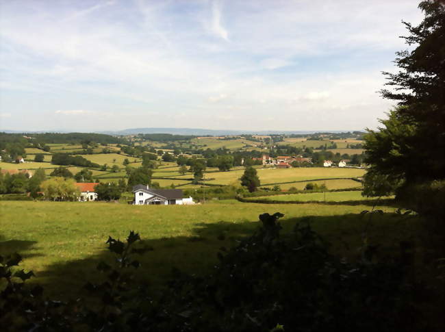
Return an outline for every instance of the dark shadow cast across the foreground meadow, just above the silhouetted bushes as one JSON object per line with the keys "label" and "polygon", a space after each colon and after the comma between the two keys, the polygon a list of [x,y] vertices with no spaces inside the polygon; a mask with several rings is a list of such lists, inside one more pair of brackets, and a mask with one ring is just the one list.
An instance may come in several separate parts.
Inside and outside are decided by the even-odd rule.
{"label": "dark shadow cast across the foreground meadow, just above the silhouetted bushes", "polygon": [[[416,233],[414,227],[418,226],[418,222],[407,222],[409,218],[413,217],[408,216],[401,220],[394,214],[387,214],[379,216],[378,220],[371,220],[368,241],[383,243],[383,247],[397,245],[399,241]],[[366,217],[357,214],[285,218],[281,220],[282,236],[290,235],[296,223],[301,221],[309,221],[315,231],[331,242],[333,253],[346,257],[357,256],[357,248],[361,246],[361,234],[369,222]],[[406,227],[407,225],[409,227]],[[144,240],[145,234],[141,233],[140,245],[151,246],[154,250],[138,257],[142,265],[134,275],[136,279],[143,281],[153,294],[157,294],[162,291],[173,268],[179,268],[189,274],[205,274],[218,262],[216,255],[221,248],[235,246],[240,239],[253,234],[257,227],[259,222],[220,221],[212,224],[196,223],[190,236]],[[99,261],[110,263],[113,260],[106,249],[106,240],[103,239],[103,250],[96,255],[52,264],[39,272],[34,282],[42,284],[47,295],[55,298],[79,296],[79,290],[87,281],[97,283],[105,278],[97,270],[97,264]],[[20,248],[17,248],[21,252]]]}

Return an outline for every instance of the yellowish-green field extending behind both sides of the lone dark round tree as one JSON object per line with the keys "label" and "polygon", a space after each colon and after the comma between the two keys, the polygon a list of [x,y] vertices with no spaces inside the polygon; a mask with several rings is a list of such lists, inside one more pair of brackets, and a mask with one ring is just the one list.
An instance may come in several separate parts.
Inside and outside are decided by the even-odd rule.
{"label": "yellowish-green field extending behind both sides of the lone dark round tree", "polygon": [[[214,180],[209,183],[227,185],[238,181],[244,170],[210,173],[206,178]],[[281,183],[288,181],[303,181],[312,179],[334,179],[339,177],[362,177],[366,170],[359,168],[325,168],[325,167],[300,167],[300,168],[258,168],[259,181],[262,186],[269,183]]]}

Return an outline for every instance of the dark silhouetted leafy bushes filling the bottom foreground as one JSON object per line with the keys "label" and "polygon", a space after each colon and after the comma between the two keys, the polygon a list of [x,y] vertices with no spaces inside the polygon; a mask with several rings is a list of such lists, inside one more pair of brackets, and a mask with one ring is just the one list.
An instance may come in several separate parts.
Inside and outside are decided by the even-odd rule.
{"label": "dark silhouetted leafy bushes filling the bottom foreground", "polygon": [[[378,216],[364,213],[363,218]],[[309,220],[280,238],[283,214],[262,214],[261,227],[238,246],[221,248],[204,277],[173,272],[162,296],[136,281],[136,255],[153,250],[131,231],[107,240],[113,261],[101,261],[100,283],[86,283],[88,301],[44,298],[17,268],[17,254],[0,257],[0,325],[10,331],[433,331],[418,310],[437,290],[409,277],[411,242],[379,257],[364,242],[354,261],[336,257]],[[421,296],[420,296],[421,295]]]}

